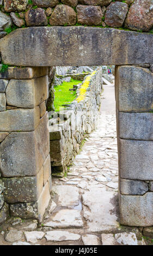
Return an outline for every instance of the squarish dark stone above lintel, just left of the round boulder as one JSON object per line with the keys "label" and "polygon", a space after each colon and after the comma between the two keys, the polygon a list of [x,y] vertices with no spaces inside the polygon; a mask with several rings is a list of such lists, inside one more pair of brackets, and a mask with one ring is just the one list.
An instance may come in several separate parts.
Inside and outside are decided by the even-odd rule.
{"label": "squarish dark stone above lintel, just left of the round boulder", "polygon": [[45,10],[42,8],[29,9],[25,13],[27,26],[46,26],[48,24]]}

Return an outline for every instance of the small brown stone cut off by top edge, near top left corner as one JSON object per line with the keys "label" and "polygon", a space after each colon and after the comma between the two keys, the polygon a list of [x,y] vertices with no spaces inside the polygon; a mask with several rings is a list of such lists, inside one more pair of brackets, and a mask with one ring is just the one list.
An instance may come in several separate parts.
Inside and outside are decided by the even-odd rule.
{"label": "small brown stone cut off by top edge, near top left corner", "polygon": [[4,0],[5,11],[25,11],[27,8],[28,0]]}

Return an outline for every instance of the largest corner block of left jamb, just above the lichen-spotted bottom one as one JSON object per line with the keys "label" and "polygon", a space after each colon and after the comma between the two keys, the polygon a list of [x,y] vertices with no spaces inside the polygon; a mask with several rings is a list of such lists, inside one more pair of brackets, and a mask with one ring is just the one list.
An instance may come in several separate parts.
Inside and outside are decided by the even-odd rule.
{"label": "largest corner block of left jamb, just above the lichen-spotted bottom one", "polygon": [[0,145],[4,177],[35,176],[50,152],[47,112],[33,132],[11,132]]}

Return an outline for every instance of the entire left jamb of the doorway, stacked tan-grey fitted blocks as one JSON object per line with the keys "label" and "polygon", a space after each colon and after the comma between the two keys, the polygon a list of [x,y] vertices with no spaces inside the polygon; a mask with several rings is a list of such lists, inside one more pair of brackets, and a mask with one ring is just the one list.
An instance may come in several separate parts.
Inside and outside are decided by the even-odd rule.
{"label": "entire left jamb of the doorway, stacked tan-grey fitted blocks", "polygon": [[0,224],[8,210],[41,221],[51,191],[47,68],[0,76]]}

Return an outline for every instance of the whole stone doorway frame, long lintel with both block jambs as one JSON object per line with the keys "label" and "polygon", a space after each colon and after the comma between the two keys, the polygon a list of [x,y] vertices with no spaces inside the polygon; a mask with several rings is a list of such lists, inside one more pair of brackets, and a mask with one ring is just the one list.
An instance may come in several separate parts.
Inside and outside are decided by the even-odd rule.
{"label": "whole stone doorway frame, long lintel with both block jambs", "polygon": [[107,27],[27,27],[4,36],[0,51],[9,65],[0,80],[4,218],[9,204],[11,215],[41,221],[50,200],[46,67],[116,65],[120,223],[153,225],[153,35]]}

